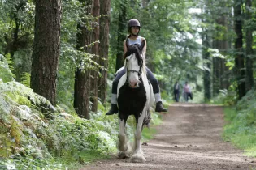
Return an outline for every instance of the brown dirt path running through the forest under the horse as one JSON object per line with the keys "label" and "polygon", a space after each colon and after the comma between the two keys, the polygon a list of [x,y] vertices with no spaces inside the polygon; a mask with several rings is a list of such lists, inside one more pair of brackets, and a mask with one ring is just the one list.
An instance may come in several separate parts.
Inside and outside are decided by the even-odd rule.
{"label": "brown dirt path running through the forest under the horse", "polygon": [[223,108],[204,104],[172,104],[163,115],[154,139],[143,146],[143,164],[128,159],[107,159],[83,170],[121,169],[256,169],[256,159],[248,158],[223,142]]}

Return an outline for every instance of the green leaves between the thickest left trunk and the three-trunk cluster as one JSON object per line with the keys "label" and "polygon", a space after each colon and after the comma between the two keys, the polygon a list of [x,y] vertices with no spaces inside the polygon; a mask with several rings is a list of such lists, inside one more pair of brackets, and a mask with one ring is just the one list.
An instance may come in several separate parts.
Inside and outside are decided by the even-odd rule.
{"label": "green leaves between the thickest left trunk and the three-trunk cluster", "polygon": [[104,69],[94,62],[91,53],[86,53],[85,49],[91,47],[95,42],[77,49],[76,37],[80,30],[77,30],[78,23],[86,25],[92,31],[94,17],[85,15],[89,6],[85,6],[78,0],[63,0],[63,13],[61,23],[61,53],[59,57],[59,68],[57,76],[57,104],[68,113],[75,113],[73,108],[75,72],[77,69],[82,71]]}

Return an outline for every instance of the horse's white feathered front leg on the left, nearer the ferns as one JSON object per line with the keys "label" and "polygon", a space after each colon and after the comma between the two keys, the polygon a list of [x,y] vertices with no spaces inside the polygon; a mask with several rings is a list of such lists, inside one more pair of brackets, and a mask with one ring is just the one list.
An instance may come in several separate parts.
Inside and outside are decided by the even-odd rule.
{"label": "horse's white feathered front leg on the left, nearer the ferns", "polygon": [[130,143],[128,142],[128,137],[125,133],[125,120],[121,120],[119,118],[119,143],[118,143],[118,149],[119,149],[119,158],[128,158],[130,157],[131,147]]}

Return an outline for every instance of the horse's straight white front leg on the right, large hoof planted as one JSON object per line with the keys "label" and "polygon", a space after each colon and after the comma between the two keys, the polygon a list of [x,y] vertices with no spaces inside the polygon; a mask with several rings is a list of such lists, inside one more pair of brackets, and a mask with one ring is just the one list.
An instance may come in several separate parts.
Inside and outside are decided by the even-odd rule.
{"label": "horse's straight white front leg on the right, large hoof planted", "polygon": [[141,117],[137,119],[136,132],[134,134],[134,152],[130,161],[132,163],[143,163],[145,162],[145,156],[141,150],[141,134],[142,134],[142,124],[145,117],[145,108],[142,111]]}

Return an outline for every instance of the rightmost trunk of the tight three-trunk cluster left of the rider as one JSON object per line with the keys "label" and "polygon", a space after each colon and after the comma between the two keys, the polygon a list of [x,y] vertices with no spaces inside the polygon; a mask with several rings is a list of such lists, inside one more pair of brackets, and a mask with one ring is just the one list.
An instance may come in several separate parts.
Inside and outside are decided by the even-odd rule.
{"label": "rightmost trunk of the tight three-trunk cluster left of the rider", "polygon": [[[108,67],[108,48],[109,48],[109,32],[110,32],[110,19],[111,19],[111,1],[101,0],[101,15],[100,18],[100,61],[99,64],[104,68]],[[106,103],[106,78],[107,72],[105,69],[101,69],[100,73],[102,77],[98,79],[98,96],[102,100],[102,104]]]}

